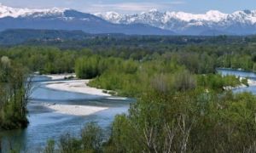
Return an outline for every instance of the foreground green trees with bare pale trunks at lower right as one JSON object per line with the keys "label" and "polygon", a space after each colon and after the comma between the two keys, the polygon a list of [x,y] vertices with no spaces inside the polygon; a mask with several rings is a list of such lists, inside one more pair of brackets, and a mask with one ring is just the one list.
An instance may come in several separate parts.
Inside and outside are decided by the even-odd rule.
{"label": "foreground green trees with bare pale trunks at lower right", "polygon": [[149,92],[117,116],[108,152],[249,152],[255,150],[255,98],[192,90]]}

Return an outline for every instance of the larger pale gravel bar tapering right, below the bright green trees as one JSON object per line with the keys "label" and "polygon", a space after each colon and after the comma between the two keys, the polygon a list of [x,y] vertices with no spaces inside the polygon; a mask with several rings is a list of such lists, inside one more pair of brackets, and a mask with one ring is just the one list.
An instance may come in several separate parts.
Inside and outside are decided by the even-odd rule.
{"label": "larger pale gravel bar tapering right, below the bright green trees", "polygon": [[55,90],[74,92],[79,94],[91,94],[98,96],[111,96],[110,94],[103,93],[103,89],[91,88],[87,86],[90,80],[70,80],[60,82],[47,82],[46,87]]}

